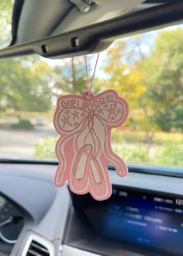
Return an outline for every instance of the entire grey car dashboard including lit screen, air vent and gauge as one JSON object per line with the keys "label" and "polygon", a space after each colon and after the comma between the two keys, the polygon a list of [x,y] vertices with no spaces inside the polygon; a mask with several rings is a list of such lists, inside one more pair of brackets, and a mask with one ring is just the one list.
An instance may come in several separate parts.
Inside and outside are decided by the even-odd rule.
{"label": "entire grey car dashboard including lit screen, air vent and gauge", "polygon": [[183,255],[181,177],[109,171],[103,202],[54,186],[53,164],[0,164],[0,255]]}

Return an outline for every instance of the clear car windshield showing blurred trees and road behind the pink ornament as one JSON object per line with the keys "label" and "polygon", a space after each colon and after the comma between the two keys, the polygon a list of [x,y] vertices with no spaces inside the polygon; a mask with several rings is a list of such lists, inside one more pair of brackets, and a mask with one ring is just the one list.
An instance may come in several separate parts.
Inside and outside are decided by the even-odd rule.
{"label": "clear car windshield showing blurred trees and road behind the pink ornament", "polygon": [[[128,164],[182,168],[182,41],[183,26],[171,26],[116,40],[99,56],[92,91],[113,88],[129,102],[126,123],[112,130]],[[91,55],[90,76],[94,64]],[[57,99],[86,90],[84,57],[0,61],[0,158],[57,160]]]}

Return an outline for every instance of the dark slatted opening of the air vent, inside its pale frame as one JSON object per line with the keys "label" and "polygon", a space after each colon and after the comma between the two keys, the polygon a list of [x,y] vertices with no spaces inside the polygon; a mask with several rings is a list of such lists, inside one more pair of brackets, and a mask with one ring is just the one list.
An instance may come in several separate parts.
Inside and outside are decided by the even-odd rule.
{"label": "dark slatted opening of the air vent, inside its pale frame", "polygon": [[36,242],[36,240],[32,240],[26,256],[50,256],[50,251],[47,247],[43,246],[43,244]]}

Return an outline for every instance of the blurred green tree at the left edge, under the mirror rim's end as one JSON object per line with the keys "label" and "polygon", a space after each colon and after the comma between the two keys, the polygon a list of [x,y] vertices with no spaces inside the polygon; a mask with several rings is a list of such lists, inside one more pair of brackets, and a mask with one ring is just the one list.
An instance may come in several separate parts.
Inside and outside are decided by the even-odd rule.
{"label": "blurred green tree at the left edge, under the mirror rim's end", "polygon": [[38,57],[0,61],[0,109],[51,108],[50,67]]}

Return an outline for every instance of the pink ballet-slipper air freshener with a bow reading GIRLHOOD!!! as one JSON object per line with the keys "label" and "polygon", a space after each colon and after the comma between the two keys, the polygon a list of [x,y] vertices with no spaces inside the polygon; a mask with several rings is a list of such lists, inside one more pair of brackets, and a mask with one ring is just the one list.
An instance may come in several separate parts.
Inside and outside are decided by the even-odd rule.
{"label": "pink ballet-slipper air freshener with a bow reading GIRLHOOD!!!", "polygon": [[113,90],[90,97],[88,92],[61,96],[54,114],[54,126],[61,135],[56,145],[55,185],[68,181],[76,194],[89,192],[96,200],[108,199],[112,193],[108,165],[119,176],[128,172],[111,147],[111,130],[126,121],[128,112],[126,100]]}

